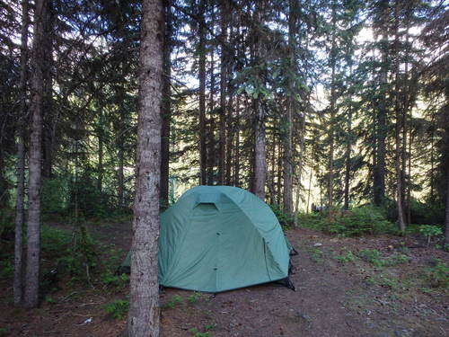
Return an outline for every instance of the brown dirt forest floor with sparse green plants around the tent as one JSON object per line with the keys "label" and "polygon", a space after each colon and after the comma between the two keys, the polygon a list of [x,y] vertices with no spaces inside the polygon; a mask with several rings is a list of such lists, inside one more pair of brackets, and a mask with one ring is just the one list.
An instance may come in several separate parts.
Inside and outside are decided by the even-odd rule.
{"label": "brown dirt forest floor with sparse green plants around the tent", "polygon": [[[102,222],[89,230],[109,244],[103,253],[123,258],[131,243],[129,223]],[[449,253],[427,248],[418,236],[345,238],[304,228],[286,235],[299,252],[292,257],[295,292],[266,284],[214,297],[166,288],[162,336],[447,336],[448,292],[437,287],[431,271],[437,271],[435,259],[447,262]],[[60,279],[33,310],[14,308],[12,292],[11,279],[0,279],[0,336],[108,337],[125,327],[126,316],[114,319],[105,306],[127,299],[128,286]]]}

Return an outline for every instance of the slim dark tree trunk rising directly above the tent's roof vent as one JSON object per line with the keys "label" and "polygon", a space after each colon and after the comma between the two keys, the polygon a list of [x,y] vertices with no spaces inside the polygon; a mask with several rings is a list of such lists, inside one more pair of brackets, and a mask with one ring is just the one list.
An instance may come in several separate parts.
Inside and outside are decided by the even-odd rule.
{"label": "slim dark tree trunk rising directly above the tent's roof vent", "polygon": [[206,143],[206,27],[205,27],[205,1],[199,5],[199,184],[207,184],[207,143]]}

